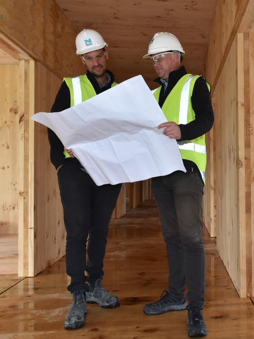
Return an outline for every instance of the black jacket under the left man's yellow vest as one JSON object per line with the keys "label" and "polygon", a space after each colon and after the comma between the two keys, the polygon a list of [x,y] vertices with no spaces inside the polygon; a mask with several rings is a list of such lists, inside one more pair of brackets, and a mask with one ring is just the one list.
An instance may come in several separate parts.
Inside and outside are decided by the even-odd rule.
{"label": "black jacket under the left man's yellow vest", "polygon": [[[100,88],[99,84],[97,83],[94,75],[87,71],[87,77],[91,84],[93,85],[93,88],[96,92],[96,94],[99,94],[101,92],[104,92],[105,90],[111,88],[112,83],[114,82],[114,75],[112,72],[107,70],[107,73],[110,75],[110,82],[107,84],[107,86],[104,86],[103,88]],[[69,87],[67,86],[66,82],[62,82],[61,87],[56,94],[55,102],[51,108],[51,112],[61,112],[67,108],[71,107],[71,95]],[[81,164],[79,163],[77,158],[65,158],[64,155],[64,145],[62,145],[60,139],[58,136],[48,128],[48,137],[49,137],[49,143],[50,143],[50,159],[52,164],[57,169],[60,165],[64,164],[67,160],[69,163],[72,162],[73,165],[78,165],[80,167]]]}

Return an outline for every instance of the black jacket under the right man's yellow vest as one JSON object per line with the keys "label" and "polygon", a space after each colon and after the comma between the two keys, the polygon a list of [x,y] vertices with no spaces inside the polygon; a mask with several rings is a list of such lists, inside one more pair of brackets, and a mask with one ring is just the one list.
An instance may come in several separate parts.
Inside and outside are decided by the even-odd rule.
{"label": "black jacket under the right man's yellow vest", "polygon": [[[163,106],[168,94],[170,94],[180,78],[185,74],[187,74],[187,72],[184,66],[180,67],[176,71],[172,71],[168,76],[165,92],[161,78],[155,79],[155,82],[162,86],[159,95],[160,107]],[[195,120],[186,125],[179,125],[181,130],[181,139],[179,139],[179,141],[195,139],[208,132],[214,124],[214,112],[213,106],[211,105],[210,92],[207,88],[206,81],[202,76],[200,76],[195,82],[191,100],[192,107],[195,112]],[[199,169],[194,162],[183,159],[183,164],[188,172],[199,173]]]}

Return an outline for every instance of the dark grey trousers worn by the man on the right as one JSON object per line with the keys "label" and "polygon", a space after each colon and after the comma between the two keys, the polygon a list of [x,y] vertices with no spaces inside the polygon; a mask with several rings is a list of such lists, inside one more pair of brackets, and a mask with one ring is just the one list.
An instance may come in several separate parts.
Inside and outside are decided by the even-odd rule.
{"label": "dark grey trousers worn by the man on the right", "polygon": [[184,297],[202,307],[205,293],[205,254],[202,234],[203,181],[198,173],[176,171],[153,178],[170,270],[169,292],[175,301]]}

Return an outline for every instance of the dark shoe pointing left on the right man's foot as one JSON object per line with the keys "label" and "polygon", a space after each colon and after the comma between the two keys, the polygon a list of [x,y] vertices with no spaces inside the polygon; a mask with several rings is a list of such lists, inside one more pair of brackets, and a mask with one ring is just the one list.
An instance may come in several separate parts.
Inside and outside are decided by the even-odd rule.
{"label": "dark shoe pointing left on the right man's foot", "polygon": [[162,314],[168,311],[181,311],[185,310],[187,302],[183,298],[179,302],[172,300],[170,293],[167,290],[164,290],[161,294],[160,300],[155,303],[146,304],[143,308],[145,314],[157,315]]}

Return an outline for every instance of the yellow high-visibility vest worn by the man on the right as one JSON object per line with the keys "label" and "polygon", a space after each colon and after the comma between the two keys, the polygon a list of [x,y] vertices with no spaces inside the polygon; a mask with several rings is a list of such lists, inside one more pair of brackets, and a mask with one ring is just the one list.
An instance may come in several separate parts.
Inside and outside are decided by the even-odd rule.
{"label": "yellow high-visibility vest worn by the man on the right", "polygon": [[[168,94],[162,111],[167,118],[167,121],[175,122],[176,124],[188,124],[195,120],[195,112],[192,107],[191,97],[194,84],[200,75],[185,74],[180,78],[178,83]],[[210,90],[208,83],[207,87]],[[154,91],[154,96],[159,102],[161,86]],[[177,142],[181,156],[183,159],[193,161],[200,170],[203,181],[205,182],[205,166],[206,166],[206,147],[205,135],[188,140]]]}

